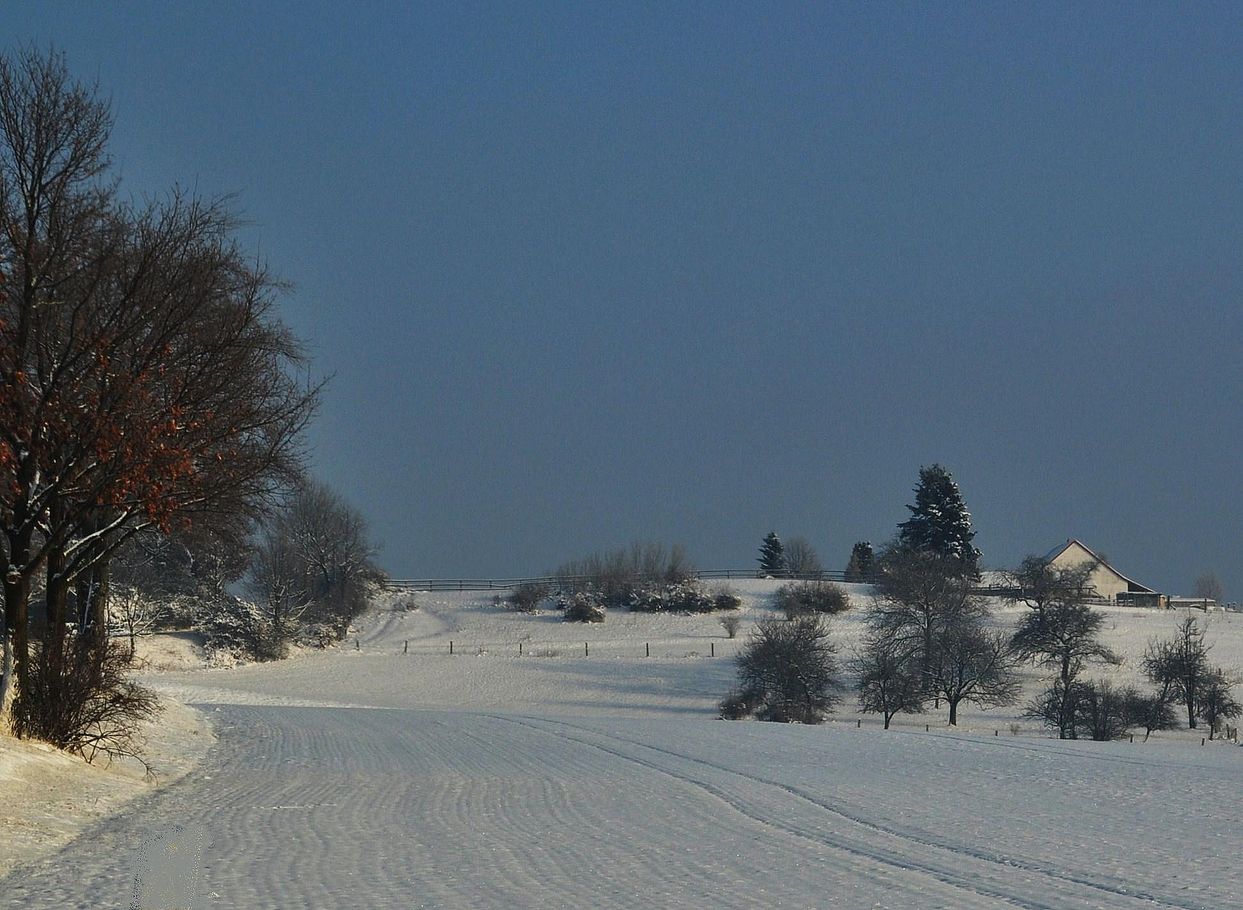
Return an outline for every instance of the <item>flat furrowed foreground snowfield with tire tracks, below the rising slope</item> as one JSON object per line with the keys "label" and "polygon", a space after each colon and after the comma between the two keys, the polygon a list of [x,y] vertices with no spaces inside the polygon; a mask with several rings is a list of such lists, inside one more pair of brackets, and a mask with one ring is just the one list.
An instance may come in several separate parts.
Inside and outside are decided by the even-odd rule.
{"label": "flat furrowed foreground snowfield with tire tracks, below the rising slope", "polygon": [[135,879],[189,880],[193,863],[144,849],[169,830],[201,847],[204,910],[1237,905],[1237,879],[1214,880],[1206,853],[1232,837],[1221,750],[1162,773],[1121,747],[849,727],[273,706],[215,719],[201,773],[5,880],[4,906],[126,908]]}

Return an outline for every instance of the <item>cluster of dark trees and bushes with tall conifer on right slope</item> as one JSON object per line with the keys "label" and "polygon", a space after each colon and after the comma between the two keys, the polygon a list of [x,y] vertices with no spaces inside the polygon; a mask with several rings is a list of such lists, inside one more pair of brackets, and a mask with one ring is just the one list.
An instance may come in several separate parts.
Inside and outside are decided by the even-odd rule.
{"label": "cluster of dark trees and bushes with tall conifer on right slope", "polygon": [[[1186,707],[1192,728],[1197,719],[1212,730],[1239,715],[1227,674],[1208,663],[1203,632],[1190,617],[1172,640],[1149,646],[1144,671],[1155,691],[1086,679],[1093,665],[1120,663],[1101,641],[1103,615],[1089,603],[1093,566],[1055,568],[1028,557],[1008,573],[1016,602],[1028,610],[1013,634],[993,628],[986,602],[975,593],[979,551],[957,485],[933,465],[921,470],[915,492],[911,517],[868,563],[875,594],[863,645],[850,661],[861,710],[880,714],[886,728],[896,714],[922,712],[941,701],[950,725],[957,724],[963,702],[1014,704],[1024,661],[1052,673],[1025,714],[1063,738],[1168,728],[1176,704]],[[856,568],[871,557],[870,547],[864,556],[864,546],[853,554]],[[722,714],[807,722],[829,710],[839,680],[827,628],[818,617],[793,622],[759,624],[740,658],[740,689],[722,702]],[[767,666],[777,655],[786,666]]]}

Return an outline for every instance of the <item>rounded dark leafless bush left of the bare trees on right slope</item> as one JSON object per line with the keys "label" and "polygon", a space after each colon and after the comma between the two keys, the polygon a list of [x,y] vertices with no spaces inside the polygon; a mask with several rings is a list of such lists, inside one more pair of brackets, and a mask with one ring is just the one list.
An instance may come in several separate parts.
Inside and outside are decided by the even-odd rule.
{"label": "rounded dark leafless bush left of the bare trees on right slope", "polygon": [[738,690],[759,720],[819,724],[840,687],[834,650],[823,617],[763,619],[738,655]]}

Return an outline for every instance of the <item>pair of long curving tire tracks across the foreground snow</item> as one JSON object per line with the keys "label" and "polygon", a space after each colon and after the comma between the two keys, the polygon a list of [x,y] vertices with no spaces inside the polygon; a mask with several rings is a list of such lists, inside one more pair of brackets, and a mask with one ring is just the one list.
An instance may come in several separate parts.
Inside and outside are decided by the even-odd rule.
{"label": "pair of long curving tire tracks across the foreground snow", "polygon": [[[723,802],[728,803],[737,812],[740,812],[740,813],[747,816],[748,818],[752,818],[753,820],[759,822],[762,824],[769,824],[769,825],[779,828],[782,830],[787,830],[787,832],[789,832],[789,833],[792,833],[792,834],[794,834],[797,837],[800,837],[800,838],[804,838],[804,839],[808,839],[808,840],[812,840],[812,842],[815,842],[815,843],[823,843],[823,844],[825,844],[828,847],[832,847],[832,848],[843,849],[843,850],[851,852],[851,853],[858,853],[860,855],[868,857],[870,859],[875,859],[876,862],[885,863],[885,864],[889,864],[889,865],[892,865],[892,866],[897,866],[897,868],[901,868],[901,869],[919,870],[919,871],[926,873],[926,874],[936,878],[940,881],[945,881],[945,883],[955,885],[957,888],[963,888],[967,891],[972,891],[972,893],[982,895],[982,896],[988,896],[988,898],[1006,900],[1009,904],[1013,904],[1016,906],[1027,908],[1028,910],[1063,910],[1063,909],[1065,909],[1065,910],[1078,910],[1079,908],[1099,908],[1101,905],[1099,903],[1094,903],[1094,901],[1099,901],[1100,896],[1108,896],[1108,898],[1110,898],[1110,899],[1112,899],[1115,901],[1125,901],[1125,903],[1116,903],[1115,906],[1119,906],[1119,908],[1141,906],[1142,905],[1142,906],[1149,906],[1149,908],[1152,908],[1152,906],[1170,908],[1171,910],[1212,910],[1211,908],[1207,908],[1206,905],[1202,905],[1202,904],[1182,904],[1182,903],[1177,903],[1177,901],[1175,901],[1175,900],[1172,900],[1172,899],[1170,899],[1167,896],[1160,896],[1160,895],[1156,895],[1156,894],[1152,894],[1152,893],[1147,893],[1147,891],[1141,891],[1141,890],[1124,889],[1124,888],[1120,888],[1120,886],[1116,886],[1116,885],[1111,885],[1111,884],[1103,883],[1103,881],[1099,881],[1099,880],[1093,880],[1093,879],[1089,879],[1089,878],[1085,878],[1085,876],[1068,875],[1068,874],[1065,874],[1065,873],[1063,873],[1063,871],[1060,871],[1058,869],[1053,869],[1053,868],[1049,868],[1049,866],[1045,866],[1045,865],[1042,865],[1042,864],[1038,864],[1038,863],[1033,863],[1030,860],[1016,859],[1016,858],[1011,858],[1011,857],[989,855],[989,854],[983,853],[981,850],[971,850],[971,849],[966,849],[966,848],[963,848],[961,845],[948,844],[948,843],[943,843],[943,842],[937,842],[937,840],[932,840],[932,839],[929,839],[929,838],[914,834],[911,832],[904,832],[904,830],[900,830],[900,829],[896,829],[896,828],[890,828],[888,825],[879,824],[879,823],[876,823],[874,820],[870,820],[868,818],[864,818],[861,816],[850,813],[850,812],[848,812],[848,811],[845,811],[845,809],[843,809],[840,807],[830,806],[830,804],[825,803],[823,799],[817,798],[817,797],[814,797],[814,796],[812,796],[812,794],[802,791],[798,787],[794,787],[794,786],[791,786],[791,784],[786,784],[786,783],[782,783],[779,781],[773,781],[773,779],[769,779],[769,778],[764,778],[764,777],[761,777],[761,776],[745,773],[745,772],[737,771],[736,768],[727,767],[725,765],[718,765],[716,762],[711,762],[711,761],[707,761],[707,760],[704,760],[704,758],[697,758],[697,757],[694,757],[694,756],[684,755],[681,752],[675,752],[672,750],[661,748],[659,746],[653,746],[653,745],[649,745],[649,743],[645,743],[645,742],[636,742],[634,740],[628,740],[625,737],[617,736],[614,733],[605,733],[605,732],[602,732],[602,731],[598,731],[598,730],[593,730],[592,727],[584,727],[584,726],[579,726],[577,724],[571,724],[571,722],[563,721],[563,720],[554,720],[554,719],[551,719],[551,717],[525,716],[525,717],[522,717],[520,720],[517,717],[505,716],[505,715],[492,715],[492,716],[496,717],[497,720],[507,720],[507,721],[510,721],[512,724],[522,724],[525,726],[530,726],[530,727],[533,727],[533,728],[546,730],[547,732],[549,732],[549,733],[552,733],[554,736],[562,736],[562,737],[572,740],[574,742],[580,742],[584,746],[592,746],[594,748],[599,748],[599,750],[603,750],[605,752],[610,752],[612,755],[617,755],[618,757],[638,762],[638,763],[644,765],[646,767],[650,767],[650,768],[653,768],[655,771],[660,771],[663,773],[666,773],[670,777],[674,777],[676,779],[681,779],[681,781],[684,781],[686,783],[691,783],[694,786],[701,787],[705,791],[707,791],[709,793],[711,793],[712,796],[715,796],[715,797],[722,799]],[[706,767],[706,768],[710,768],[710,770],[712,770],[715,772],[720,772],[720,773],[723,773],[723,774],[730,774],[730,776],[733,776],[733,777],[738,777],[738,778],[742,778],[745,781],[750,781],[752,783],[762,784],[764,787],[776,788],[776,789],[778,789],[778,791],[781,791],[781,792],[783,792],[783,793],[786,793],[786,794],[788,794],[791,797],[794,797],[796,799],[798,799],[798,801],[800,801],[803,803],[810,804],[810,806],[815,807],[817,809],[819,809],[822,812],[825,812],[825,813],[829,813],[829,814],[832,814],[832,816],[834,816],[834,817],[837,817],[837,818],[839,818],[839,819],[842,819],[842,820],[844,820],[844,822],[846,822],[846,823],[849,823],[851,825],[856,825],[856,827],[863,828],[863,829],[865,829],[868,832],[871,832],[874,835],[880,835],[883,838],[892,838],[892,839],[895,839],[897,842],[905,842],[906,844],[910,844],[910,845],[914,845],[914,847],[917,847],[917,848],[921,848],[921,849],[925,849],[925,850],[931,850],[933,853],[948,853],[948,854],[951,854],[952,857],[955,857],[960,862],[962,859],[966,859],[966,860],[971,860],[973,863],[984,864],[984,869],[989,869],[989,868],[992,869],[992,871],[987,873],[987,878],[989,880],[994,880],[994,884],[991,885],[991,886],[988,886],[988,888],[981,888],[981,884],[979,884],[979,881],[977,879],[966,878],[966,876],[961,875],[960,873],[957,873],[953,869],[948,868],[948,865],[946,863],[943,863],[943,862],[942,863],[931,863],[931,862],[927,862],[927,860],[920,860],[920,859],[916,859],[916,858],[909,855],[909,853],[904,853],[902,849],[896,849],[895,850],[892,848],[884,848],[884,847],[880,847],[878,844],[868,843],[866,840],[849,838],[849,837],[843,837],[842,834],[838,834],[838,833],[834,833],[833,835],[827,835],[822,830],[817,830],[817,832],[810,832],[809,833],[809,832],[807,832],[804,829],[800,829],[800,828],[798,828],[798,827],[796,827],[796,825],[793,825],[791,823],[776,820],[772,817],[764,817],[762,814],[762,812],[763,812],[762,809],[759,811],[761,814],[757,814],[755,811],[747,808],[746,801],[743,801],[742,798],[740,798],[737,794],[726,791],[723,787],[718,787],[716,784],[709,783],[709,782],[702,781],[702,779],[700,779],[700,778],[697,778],[697,777],[695,777],[692,774],[689,774],[689,773],[674,771],[672,768],[669,768],[665,765],[659,765],[659,763],[653,762],[653,761],[648,761],[648,760],[644,760],[644,758],[639,758],[636,756],[633,756],[633,755],[628,755],[628,753],[617,751],[615,748],[609,748],[607,746],[602,746],[598,742],[592,742],[589,740],[583,740],[583,738],[579,738],[579,737],[576,737],[576,736],[569,736],[569,735],[566,735],[566,733],[558,733],[556,731],[548,730],[546,726],[542,726],[544,724],[556,725],[558,727],[568,727],[571,730],[576,730],[578,732],[587,733],[588,736],[600,737],[600,738],[604,738],[604,740],[612,740],[614,742],[623,743],[624,746],[628,746],[628,747],[635,747],[635,748],[640,748],[640,750],[648,750],[648,751],[656,752],[656,753],[659,753],[661,756],[665,756],[665,757],[671,757],[671,758],[675,758],[677,761],[682,761],[682,762],[687,762],[687,763],[691,763],[691,765],[697,765],[697,766],[701,766],[701,767]],[[951,737],[951,738],[955,738],[955,737]],[[1054,903],[1054,904],[1043,903],[1043,901],[1033,898],[1032,893],[1028,890],[1027,886],[1024,886],[1024,889],[1022,891],[1016,891],[1014,888],[1013,888],[1013,884],[1011,884],[1011,881],[1009,881],[1009,879],[1013,878],[1013,873],[1014,871],[1025,873],[1028,875],[1033,875],[1033,874],[1034,875],[1040,875],[1043,879],[1045,879],[1045,881],[1042,885],[1032,885],[1030,888],[1033,890],[1035,890],[1035,891],[1040,891],[1042,889],[1050,889],[1050,886],[1052,886],[1054,890],[1060,891],[1060,894],[1057,895],[1059,903]],[[998,874],[1003,875],[1003,878],[1001,878],[999,880],[997,879]],[[1074,891],[1066,893],[1065,891],[1066,886],[1071,886],[1074,889],[1080,889],[1080,890],[1074,890]],[[1085,895],[1085,894],[1081,893],[1081,889],[1088,889],[1089,891],[1095,893],[1095,895],[1093,895],[1093,896]],[[1048,899],[1048,898],[1045,898],[1045,899]]]}

